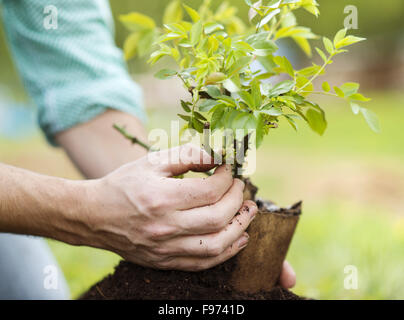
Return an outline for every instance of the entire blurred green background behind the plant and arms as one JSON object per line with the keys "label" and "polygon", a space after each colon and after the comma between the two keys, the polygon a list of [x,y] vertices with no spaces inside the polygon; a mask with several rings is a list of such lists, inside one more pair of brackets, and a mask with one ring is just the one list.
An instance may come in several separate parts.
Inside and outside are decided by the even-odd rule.
{"label": "entire blurred green background behind the plant and arms", "polygon": [[[185,2],[192,5],[200,1]],[[111,6],[114,17],[136,10],[158,19],[166,3],[168,0],[114,0]],[[240,14],[246,12],[243,0],[232,3],[239,4]],[[319,0],[319,3],[318,19],[303,12],[299,21],[324,35],[332,35],[343,27],[346,5],[358,7],[359,29],[353,33],[367,37],[368,41],[354,48],[351,55],[337,60],[327,80],[335,85],[346,80],[360,82],[364,93],[373,99],[369,107],[378,113],[382,132],[370,131],[347,105],[324,99],[321,103],[329,120],[324,137],[318,137],[303,125],[298,133],[281,125],[259,150],[258,169],[252,178],[260,187],[261,197],[281,205],[304,200],[304,214],[288,254],[297,272],[294,290],[297,294],[322,299],[402,299],[404,94],[400,88],[404,80],[404,2]],[[119,46],[126,35],[117,22]],[[295,57],[294,63],[306,63],[294,46],[287,46],[287,50]],[[46,144],[34,126],[32,114],[24,113],[21,104],[26,96],[10,56],[4,54],[7,48],[2,30],[0,52],[0,107],[12,101],[16,110],[22,110],[17,117],[19,122],[11,124],[1,121],[0,108],[0,161],[79,179],[65,154]],[[130,70],[145,89],[149,128],[168,128],[169,121],[175,119],[178,95],[182,94],[180,85],[154,80],[143,61],[131,63]],[[17,134],[15,128],[21,128],[21,123],[24,130],[18,130]],[[2,131],[2,125],[11,127],[11,131]],[[74,298],[112,272],[119,260],[101,250],[56,241],[50,241],[50,245]],[[357,290],[344,288],[347,265],[358,269]]]}

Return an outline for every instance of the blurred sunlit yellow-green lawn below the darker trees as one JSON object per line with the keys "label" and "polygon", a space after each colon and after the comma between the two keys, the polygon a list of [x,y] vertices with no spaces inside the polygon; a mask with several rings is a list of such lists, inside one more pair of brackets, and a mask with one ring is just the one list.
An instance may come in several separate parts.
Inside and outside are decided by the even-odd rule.
{"label": "blurred sunlit yellow-green lawn below the darker trees", "polygon": [[[404,95],[368,93],[380,115],[376,135],[349,107],[327,100],[329,130],[318,137],[283,125],[265,142],[252,177],[260,195],[283,205],[305,200],[304,214],[288,260],[298,284],[295,292],[320,299],[402,299],[400,283],[404,247]],[[172,110],[154,110],[150,127],[168,128]],[[62,155],[40,140],[7,144],[0,140],[0,161],[66,176],[74,175]],[[8,148],[11,147],[11,148]],[[8,152],[3,152],[7,150]],[[33,162],[35,152],[36,161]],[[51,166],[51,159],[58,165]],[[53,158],[52,158],[53,157]],[[64,163],[63,165],[61,163]],[[67,168],[67,169],[66,169]],[[114,254],[50,242],[78,297],[113,270]],[[358,270],[358,290],[344,288],[344,268]]]}

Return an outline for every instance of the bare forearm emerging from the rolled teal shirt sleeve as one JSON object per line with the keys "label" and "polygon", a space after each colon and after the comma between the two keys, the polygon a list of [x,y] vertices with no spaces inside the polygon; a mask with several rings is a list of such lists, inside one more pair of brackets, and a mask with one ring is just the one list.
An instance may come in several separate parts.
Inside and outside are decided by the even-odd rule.
{"label": "bare forearm emerging from the rolled teal shirt sleeve", "polygon": [[132,145],[114,130],[115,123],[125,126],[139,139],[147,140],[146,130],[140,120],[114,110],[56,136],[57,142],[85,177],[103,177],[146,154],[145,149]]}

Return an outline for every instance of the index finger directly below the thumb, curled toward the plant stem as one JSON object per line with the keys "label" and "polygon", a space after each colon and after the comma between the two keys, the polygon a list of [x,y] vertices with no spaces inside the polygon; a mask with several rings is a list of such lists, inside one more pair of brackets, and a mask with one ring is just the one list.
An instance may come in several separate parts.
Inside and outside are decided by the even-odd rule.
{"label": "index finger directly below the thumb, curled toward the plant stem", "polygon": [[167,178],[162,181],[161,187],[175,209],[186,210],[216,203],[232,185],[231,167],[223,165],[208,178]]}

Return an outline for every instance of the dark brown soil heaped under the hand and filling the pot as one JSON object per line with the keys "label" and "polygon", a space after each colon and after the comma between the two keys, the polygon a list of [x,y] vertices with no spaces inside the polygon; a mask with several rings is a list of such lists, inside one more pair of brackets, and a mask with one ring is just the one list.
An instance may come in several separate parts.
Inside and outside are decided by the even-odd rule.
{"label": "dark brown soil heaped under the hand and filling the pot", "polygon": [[[257,201],[260,210],[295,214],[297,204],[280,209],[273,203]],[[300,209],[298,209],[300,210]],[[112,275],[95,284],[84,300],[301,300],[294,293],[275,287],[269,292],[246,294],[230,287],[236,260],[202,272],[162,271],[122,261]],[[252,270],[251,272],[257,272]]]}

